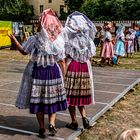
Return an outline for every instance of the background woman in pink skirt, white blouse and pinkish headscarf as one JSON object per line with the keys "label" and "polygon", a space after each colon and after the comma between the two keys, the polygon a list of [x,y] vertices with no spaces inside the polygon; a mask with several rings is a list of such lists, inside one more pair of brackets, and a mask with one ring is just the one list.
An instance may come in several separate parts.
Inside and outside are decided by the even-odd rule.
{"label": "background woman in pink skirt, white blouse and pinkish headscarf", "polygon": [[110,60],[114,55],[114,51],[113,51],[113,39],[112,39],[112,35],[110,33],[112,29],[112,23],[111,22],[107,22],[104,25],[104,36],[102,39],[103,42],[103,46],[102,46],[102,50],[101,50],[101,64],[100,66],[102,66],[102,64],[108,60],[108,65],[110,65]]}

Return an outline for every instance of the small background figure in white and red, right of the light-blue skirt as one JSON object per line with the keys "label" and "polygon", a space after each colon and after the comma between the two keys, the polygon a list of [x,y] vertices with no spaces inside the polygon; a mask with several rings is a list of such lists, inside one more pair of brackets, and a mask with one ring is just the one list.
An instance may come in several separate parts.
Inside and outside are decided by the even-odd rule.
{"label": "small background figure in white and red, right of the light-blue skirt", "polygon": [[129,54],[132,57],[132,54],[134,53],[135,35],[136,35],[136,31],[129,28],[129,31],[127,32],[126,37],[125,37],[126,38],[125,46],[126,46],[127,57],[129,56]]}

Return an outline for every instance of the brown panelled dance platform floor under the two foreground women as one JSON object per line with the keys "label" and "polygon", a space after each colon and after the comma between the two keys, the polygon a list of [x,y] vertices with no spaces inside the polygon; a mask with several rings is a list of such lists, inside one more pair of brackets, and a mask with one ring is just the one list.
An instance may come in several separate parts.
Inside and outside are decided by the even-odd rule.
{"label": "brown panelled dance platform floor under the two foreground women", "polygon": [[[35,115],[14,106],[24,67],[23,62],[0,60],[0,140],[40,139],[37,137],[38,123]],[[95,67],[93,72],[96,104],[86,107],[91,125],[140,82],[140,71]],[[77,131],[65,128],[66,123],[70,122],[68,111],[57,113],[56,118],[58,133],[55,137],[49,137],[46,132],[47,140],[73,140],[83,131],[79,112]]]}

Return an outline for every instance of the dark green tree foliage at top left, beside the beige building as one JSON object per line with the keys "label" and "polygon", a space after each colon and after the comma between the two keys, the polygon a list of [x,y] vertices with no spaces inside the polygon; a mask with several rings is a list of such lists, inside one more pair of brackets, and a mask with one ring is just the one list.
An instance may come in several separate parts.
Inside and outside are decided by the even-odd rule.
{"label": "dark green tree foliage at top left, beside the beige building", "polygon": [[27,21],[33,16],[32,6],[25,0],[0,0],[0,20]]}

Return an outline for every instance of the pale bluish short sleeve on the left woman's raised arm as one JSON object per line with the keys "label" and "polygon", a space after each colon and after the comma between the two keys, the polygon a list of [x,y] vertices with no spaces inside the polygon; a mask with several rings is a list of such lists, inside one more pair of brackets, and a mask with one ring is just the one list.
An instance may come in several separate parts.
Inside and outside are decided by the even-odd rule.
{"label": "pale bluish short sleeve on the left woman's raised arm", "polygon": [[23,46],[23,50],[26,53],[31,54],[31,52],[35,46],[35,41],[36,41],[36,38],[34,36],[29,37]]}

